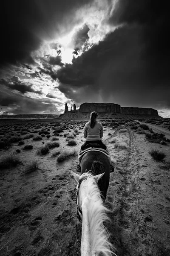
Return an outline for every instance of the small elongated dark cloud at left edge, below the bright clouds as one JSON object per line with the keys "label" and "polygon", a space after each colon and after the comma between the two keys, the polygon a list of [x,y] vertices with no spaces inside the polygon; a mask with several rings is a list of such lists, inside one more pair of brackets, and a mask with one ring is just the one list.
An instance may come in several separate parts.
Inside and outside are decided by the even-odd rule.
{"label": "small elongated dark cloud at left edge, below the bright clouds", "polygon": [[0,84],[5,85],[11,90],[17,90],[20,93],[24,94],[27,92],[30,93],[38,93],[42,94],[41,90],[34,90],[32,88],[32,84],[25,84],[22,80],[19,79],[17,76],[13,76],[11,79],[5,80],[5,79],[0,79]]}

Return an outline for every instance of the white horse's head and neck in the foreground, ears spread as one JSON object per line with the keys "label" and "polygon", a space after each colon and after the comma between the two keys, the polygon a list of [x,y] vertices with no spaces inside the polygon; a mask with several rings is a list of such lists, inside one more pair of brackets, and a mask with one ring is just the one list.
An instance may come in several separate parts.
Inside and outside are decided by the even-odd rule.
{"label": "white horse's head and neck in the foreground, ears spread", "polygon": [[81,256],[113,256],[115,248],[109,241],[109,235],[103,225],[108,220],[97,186],[104,173],[93,176],[89,172],[81,176],[71,172],[77,181],[78,214],[82,219]]}

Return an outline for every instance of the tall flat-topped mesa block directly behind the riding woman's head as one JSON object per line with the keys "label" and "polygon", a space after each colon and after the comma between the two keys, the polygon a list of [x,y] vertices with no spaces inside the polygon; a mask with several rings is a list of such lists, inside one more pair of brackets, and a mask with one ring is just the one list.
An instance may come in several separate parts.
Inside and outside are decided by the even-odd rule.
{"label": "tall flat-topped mesa block directly behind the riding woman's head", "polygon": [[90,113],[96,111],[97,113],[120,113],[120,105],[114,103],[83,103],[79,107],[80,113]]}

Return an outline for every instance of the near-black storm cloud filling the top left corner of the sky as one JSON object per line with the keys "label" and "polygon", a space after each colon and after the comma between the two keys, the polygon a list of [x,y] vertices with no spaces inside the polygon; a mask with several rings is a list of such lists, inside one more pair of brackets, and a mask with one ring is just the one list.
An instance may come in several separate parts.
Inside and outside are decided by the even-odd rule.
{"label": "near-black storm cloud filling the top left corner of the sky", "polygon": [[[0,65],[25,61],[34,63],[31,51],[40,47],[42,39],[55,39],[57,33],[68,32],[75,9],[90,0],[9,0],[0,4]],[[3,13],[3,15],[2,15]],[[62,27],[63,26],[63,27]]]}

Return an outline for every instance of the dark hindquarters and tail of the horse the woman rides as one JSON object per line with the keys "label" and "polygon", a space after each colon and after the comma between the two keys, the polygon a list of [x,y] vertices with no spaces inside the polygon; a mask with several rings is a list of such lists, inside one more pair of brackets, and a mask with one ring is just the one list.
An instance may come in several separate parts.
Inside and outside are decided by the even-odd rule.
{"label": "dark hindquarters and tail of the horse the woman rides", "polygon": [[[99,151],[90,151],[82,156],[81,159],[81,175],[87,171],[92,172],[93,175],[105,173],[98,181],[98,186],[103,196],[103,201],[106,199],[109,180],[110,180],[110,162],[109,158]],[[87,170],[87,171],[86,171]]]}

